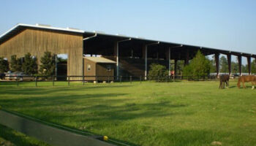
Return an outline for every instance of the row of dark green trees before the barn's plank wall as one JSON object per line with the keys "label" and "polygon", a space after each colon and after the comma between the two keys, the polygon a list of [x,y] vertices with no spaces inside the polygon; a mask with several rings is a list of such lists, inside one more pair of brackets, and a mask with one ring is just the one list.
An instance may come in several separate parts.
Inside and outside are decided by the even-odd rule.
{"label": "row of dark green trees before the barn's plank wall", "polygon": [[28,75],[50,76],[55,73],[56,55],[50,52],[45,52],[40,58],[41,64],[37,64],[37,58],[31,53],[26,53],[23,58],[17,58],[17,55],[12,55],[10,62],[0,57],[0,72],[24,72]]}

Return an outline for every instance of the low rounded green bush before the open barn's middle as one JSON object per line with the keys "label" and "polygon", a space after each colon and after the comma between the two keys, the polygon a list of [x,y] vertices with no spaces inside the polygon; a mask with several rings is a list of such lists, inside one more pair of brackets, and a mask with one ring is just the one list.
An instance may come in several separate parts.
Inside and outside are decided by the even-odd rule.
{"label": "low rounded green bush before the open barn's middle", "polygon": [[165,66],[160,64],[151,64],[148,72],[149,80],[164,81],[168,75],[168,71]]}

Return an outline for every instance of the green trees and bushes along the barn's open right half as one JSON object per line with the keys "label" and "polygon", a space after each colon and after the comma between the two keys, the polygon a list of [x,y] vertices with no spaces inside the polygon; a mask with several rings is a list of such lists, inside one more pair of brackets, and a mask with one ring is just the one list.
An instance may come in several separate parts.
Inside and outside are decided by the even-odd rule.
{"label": "green trees and bushes along the barn's open right half", "polygon": [[[174,62],[171,62],[174,64]],[[228,73],[228,63],[227,58],[222,56],[219,58],[219,72]],[[256,73],[256,61],[251,63],[251,72]],[[174,66],[171,66],[170,70],[174,70]],[[248,72],[248,65],[242,65],[242,71]],[[195,57],[189,61],[189,64],[184,66],[184,61],[178,61],[176,74],[182,74],[183,76],[193,76],[193,77],[206,77],[210,73],[216,72],[216,64],[214,58],[208,58],[203,55],[200,50],[197,51]],[[238,63],[231,62],[231,72],[233,74],[238,74]],[[148,76],[152,76],[152,80],[156,80],[156,77],[166,77],[168,75],[168,69],[160,64],[151,64],[148,71]]]}

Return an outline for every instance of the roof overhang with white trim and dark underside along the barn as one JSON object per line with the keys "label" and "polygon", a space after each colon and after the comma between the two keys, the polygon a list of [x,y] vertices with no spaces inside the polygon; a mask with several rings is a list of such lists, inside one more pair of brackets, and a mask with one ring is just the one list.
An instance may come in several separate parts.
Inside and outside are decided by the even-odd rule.
{"label": "roof overhang with white trim and dark underside along the barn", "polygon": [[158,40],[152,40],[152,39],[143,39],[140,37],[127,37],[124,35],[120,34],[105,34],[102,32],[97,32],[97,31],[83,31],[79,29],[74,29],[74,28],[57,28],[57,27],[52,27],[52,26],[41,26],[41,25],[29,25],[29,24],[23,24],[23,23],[18,23],[16,26],[10,28],[9,31],[5,32],[0,36],[0,45],[1,43],[7,41],[11,37],[15,36],[18,34],[20,31],[25,30],[26,28],[33,28],[33,29],[43,29],[43,30],[48,30],[48,31],[58,31],[62,33],[72,33],[72,34],[80,34],[83,35],[83,38],[86,37],[91,37],[95,34],[97,34],[97,37],[94,39],[104,39],[106,41],[111,40],[111,41],[120,41],[123,39],[129,39],[131,38],[131,41],[125,42],[125,43],[141,43],[143,45],[147,45],[150,43],[154,42],[159,42],[158,45],[154,45],[155,48],[166,48],[166,47],[174,47],[177,45],[182,45],[182,47],[175,48],[176,50],[182,50],[183,48],[186,48],[187,50],[202,50],[202,52],[205,55],[211,55],[215,53],[222,53],[225,55],[242,55],[244,57],[254,57],[256,58],[255,54],[251,53],[241,53],[241,52],[236,52],[236,51],[231,51],[231,50],[219,50],[216,48],[211,48],[211,47],[200,47],[200,46],[195,46],[195,45],[184,45],[184,44],[179,44],[179,43],[173,43],[173,42],[163,42],[163,41],[158,41]]}

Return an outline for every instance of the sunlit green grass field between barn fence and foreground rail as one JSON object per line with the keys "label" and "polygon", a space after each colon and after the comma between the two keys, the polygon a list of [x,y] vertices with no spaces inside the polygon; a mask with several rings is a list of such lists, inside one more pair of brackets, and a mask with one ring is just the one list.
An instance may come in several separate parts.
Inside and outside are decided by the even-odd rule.
{"label": "sunlit green grass field between barn fence and foreground rail", "polygon": [[25,84],[1,83],[1,107],[134,145],[256,145],[250,83],[238,89],[230,81],[224,90],[218,81]]}

